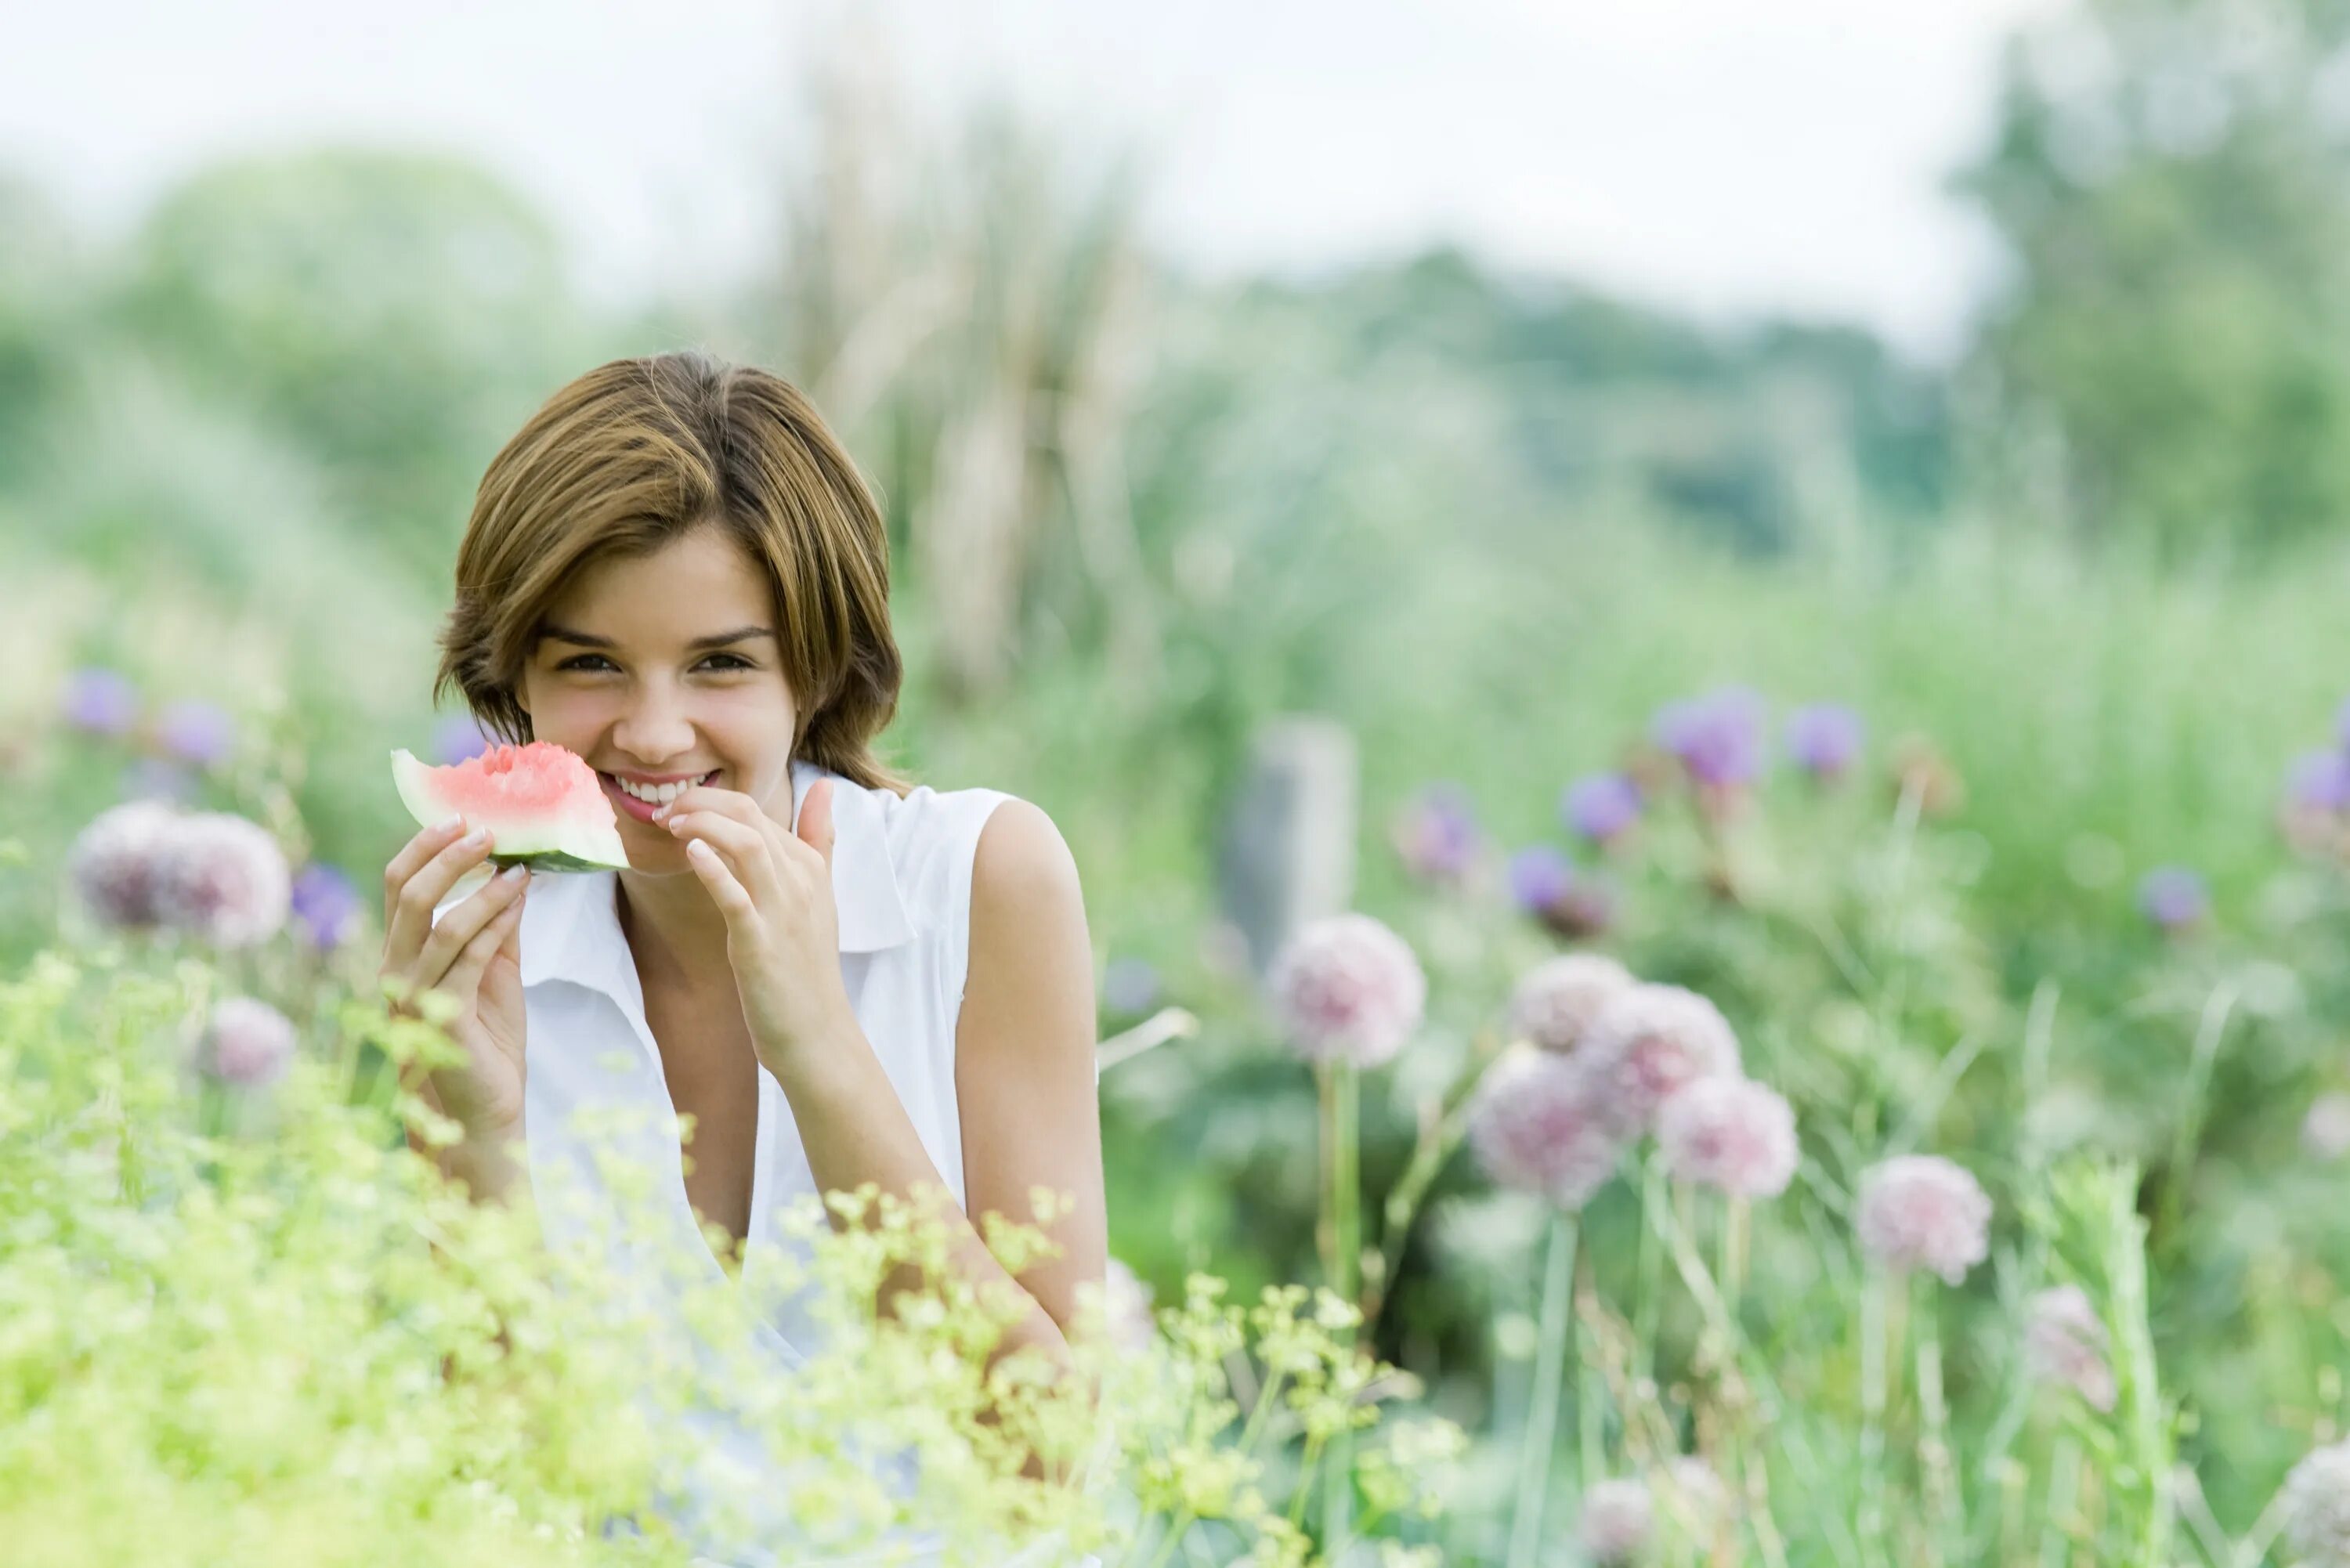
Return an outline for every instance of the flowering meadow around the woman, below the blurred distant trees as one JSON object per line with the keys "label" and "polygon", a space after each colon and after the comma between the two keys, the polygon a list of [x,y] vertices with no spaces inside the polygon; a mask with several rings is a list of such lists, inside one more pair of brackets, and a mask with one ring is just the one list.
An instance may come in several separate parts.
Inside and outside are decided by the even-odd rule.
{"label": "flowering meadow around the woman, below the blurred distant trees", "polygon": [[[1363,703],[1361,891],[1262,980],[1163,849],[1163,715],[1090,776],[1034,745],[1050,715],[926,736],[1088,867],[1112,1420],[1039,1387],[1006,1441],[978,1302],[848,1305],[919,1227],[818,1225],[853,1333],[743,1401],[808,1497],[858,1497],[797,1528],[1154,1566],[2343,1561],[2350,708],[2294,665],[2322,578],[2059,588],[1953,548],[1838,597],[1659,562],[1553,604],[1593,682],[1556,724],[1422,712],[1441,670],[1325,693]],[[75,642],[14,722],[0,870],[19,1561],[684,1561],[649,1502],[689,1443],[627,1319],[404,1147],[435,1032],[369,983],[388,785],[329,851],[298,712]],[[874,1450],[924,1488],[853,1483]],[[1083,1483],[1020,1474],[1046,1453]]]}

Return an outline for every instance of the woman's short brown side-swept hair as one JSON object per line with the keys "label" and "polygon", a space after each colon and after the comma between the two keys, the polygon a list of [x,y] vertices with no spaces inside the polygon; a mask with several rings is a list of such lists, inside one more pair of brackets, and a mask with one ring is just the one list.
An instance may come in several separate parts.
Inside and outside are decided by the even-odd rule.
{"label": "woman's short brown side-swept hair", "polygon": [[700,348],[595,367],[491,458],[456,552],[435,701],[454,686],[491,736],[531,741],[515,686],[571,574],[705,527],[766,569],[799,703],[792,757],[905,795],[872,755],[902,682],[881,508],[799,388]]}

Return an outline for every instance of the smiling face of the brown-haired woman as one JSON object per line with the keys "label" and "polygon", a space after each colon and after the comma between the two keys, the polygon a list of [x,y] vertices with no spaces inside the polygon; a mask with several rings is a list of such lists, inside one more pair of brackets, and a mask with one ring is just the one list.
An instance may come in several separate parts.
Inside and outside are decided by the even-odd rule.
{"label": "smiling face of the brown-haired woman", "polygon": [[717,529],[696,529],[658,555],[583,569],[540,621],[517,701],[533,738],[597,771],[630,860],[656,842],[682,860],[653,806],[616,778],[712,783],[761,806],[780,785],[787,823],[797,705],[780,654],[764,574]]}

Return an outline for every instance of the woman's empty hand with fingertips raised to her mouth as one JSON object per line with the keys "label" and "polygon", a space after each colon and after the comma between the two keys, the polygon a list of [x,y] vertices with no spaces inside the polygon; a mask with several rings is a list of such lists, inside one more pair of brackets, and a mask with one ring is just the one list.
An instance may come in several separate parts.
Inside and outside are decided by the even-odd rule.
{"label": "woman's empty hand with fingertips raised to her mouth", "polygon": [[853,1018],[832,905],[832,780],[818,778],[790,832],[740,790],[693,788],[663,818],[726,917],[726,959],[752,1048],[771,1070]]}

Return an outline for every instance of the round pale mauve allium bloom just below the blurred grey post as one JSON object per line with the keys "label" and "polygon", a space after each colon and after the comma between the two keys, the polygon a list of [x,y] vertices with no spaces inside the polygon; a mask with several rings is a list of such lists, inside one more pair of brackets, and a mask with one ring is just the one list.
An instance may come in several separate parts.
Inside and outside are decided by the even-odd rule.
{"label": "round pale mauve allium bloom just below the blurred grey post", "polygon": [[1370,914],[1328,914],[1283,943],[1267,971],[1297,1056],[1377,1067],[1419,1027],[1429,980],[1410,943]]}

